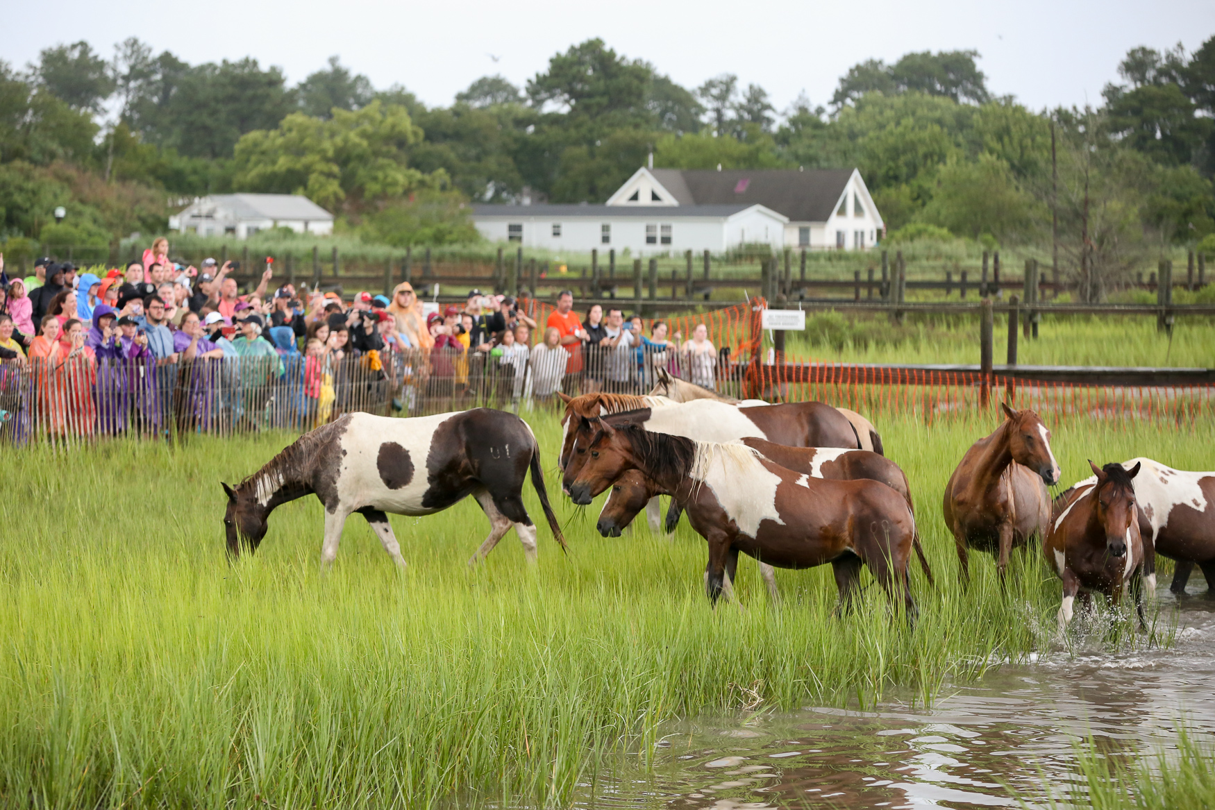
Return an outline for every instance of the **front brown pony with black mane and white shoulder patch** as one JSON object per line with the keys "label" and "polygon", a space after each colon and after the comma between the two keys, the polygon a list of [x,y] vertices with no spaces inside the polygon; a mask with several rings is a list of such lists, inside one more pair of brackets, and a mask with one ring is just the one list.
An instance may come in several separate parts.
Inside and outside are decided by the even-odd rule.
{"label": "front brown pony with black mane and white shoulder patch", "polygon": [[708,542],[705,588],[714,604],[722,593],[731,595],[741,551],[781,568],[830,562],[846,607],[859,591],[860,567],[866,565],[887,594],[902,597],[908,619],[914,618],[908,566],[915,517],[903,495],[886,485],[810,478],[744,444],[580,419],[564,478],[570,498],[589,504],[631,469],[672,492]]}

